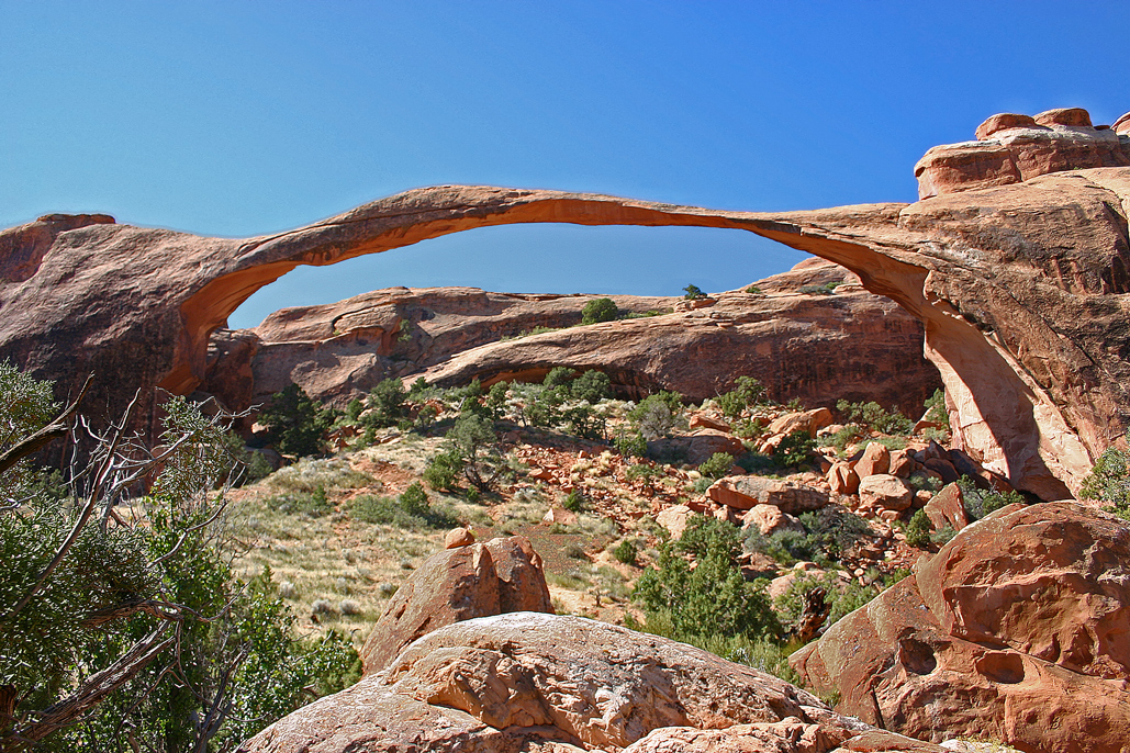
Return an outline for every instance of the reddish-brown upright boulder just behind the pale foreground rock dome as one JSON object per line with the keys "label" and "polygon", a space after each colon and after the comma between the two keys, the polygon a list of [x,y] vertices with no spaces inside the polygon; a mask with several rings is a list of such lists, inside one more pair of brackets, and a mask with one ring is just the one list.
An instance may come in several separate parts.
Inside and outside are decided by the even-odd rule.
{"label": "reddish-brown upright boulder just behind the pale foreground rock dome", "polygon": [[506,612],[554,613],[541,558],[530,542],[511,536],[444,549],[412,573],[376,621],[360,651],[365,674],[443,625]]}

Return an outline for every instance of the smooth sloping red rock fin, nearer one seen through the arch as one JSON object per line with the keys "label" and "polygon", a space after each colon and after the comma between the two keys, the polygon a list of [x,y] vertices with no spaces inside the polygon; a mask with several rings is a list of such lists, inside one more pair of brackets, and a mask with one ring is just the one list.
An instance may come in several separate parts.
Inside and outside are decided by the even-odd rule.
{"label": "smooth sloping red rock fin, nearer one seen through the arch", "polygon": [[540,379],[554,366],[570,366],[605,371],[634,399],[673,389],[701,401],[749,375],[781,401],[816,405],[831,395],[918,413],[937,384],[936,369],[920,354],[919,327],[893,301],[858,287],[834,296],[796,288],[768,296],[728,292],[695,310],[481,345],[424,377],[441,386],[475,377],[490,384]]}

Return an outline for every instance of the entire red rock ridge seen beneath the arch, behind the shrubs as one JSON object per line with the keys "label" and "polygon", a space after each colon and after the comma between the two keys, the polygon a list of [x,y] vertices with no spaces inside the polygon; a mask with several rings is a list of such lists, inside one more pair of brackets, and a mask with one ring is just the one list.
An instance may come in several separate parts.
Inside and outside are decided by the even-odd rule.
{"label": "entire red rock ridge seen beneath the arch, behind the shrubs", "polygon": [[[541,380],[555,366],[599,369],[638,400],[673,389],[701,402],[757,377],[782,402],[877,401],[906,413],[941,386],[922,356],[921,325],[864,291],[843,268],[814,260],[701,308],[576,326],[594,296],[520,296],[473,288],[393,288],[329,306],[286,308],[253,330],[219,330],[201,389],[232,410],[294,382],[345,406],[389,377],[440,386]],[[805,286],[843,283],[837,295]],[[820,291],[826,292],[825,290]],[[681,298],[612,296],[621,313],[672,312]],[[531,336],[536,327],[556,329]],[[432,367],[432,368],[428,368]]]}

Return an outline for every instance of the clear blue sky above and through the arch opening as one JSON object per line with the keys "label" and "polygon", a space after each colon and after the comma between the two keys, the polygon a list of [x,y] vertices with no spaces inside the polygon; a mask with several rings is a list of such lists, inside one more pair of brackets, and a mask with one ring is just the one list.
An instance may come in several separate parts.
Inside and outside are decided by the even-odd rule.
{"label": "clear blue sky above and through the arch opening", "polygon": [[[478,183],[785,210],[913,201],[997,112],[1130,110],[1130,3],[0,0],[0,226],[205,235]],[[299,268],[234,326],[394,284],[675,295],[800,254],[740,231],[513,226]]]}

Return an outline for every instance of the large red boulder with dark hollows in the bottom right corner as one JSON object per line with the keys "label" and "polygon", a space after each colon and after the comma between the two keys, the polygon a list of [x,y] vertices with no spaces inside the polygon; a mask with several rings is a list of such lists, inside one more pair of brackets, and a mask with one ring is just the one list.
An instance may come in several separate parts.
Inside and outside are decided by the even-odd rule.
{"label": "large red boulder with dark hollows in the bottom right corner", "polygon": [[838,709],[924,739],[1124,753],[1130,528],[1070,502],[1008,507],[793,655]]}

